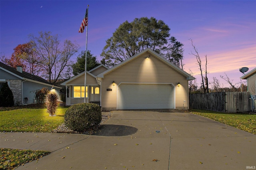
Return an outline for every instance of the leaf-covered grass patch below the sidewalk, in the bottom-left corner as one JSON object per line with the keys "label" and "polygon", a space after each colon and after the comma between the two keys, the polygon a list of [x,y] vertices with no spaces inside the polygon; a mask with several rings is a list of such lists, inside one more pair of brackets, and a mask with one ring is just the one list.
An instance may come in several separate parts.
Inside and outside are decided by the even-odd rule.
{"label": "leaf-covered grass patch below the sidewalk, in the bottom-left corner", "polygon": [[38,158],[50,154],[48,151],[40,150],[18,150],[18,149],[5,149],[0,148],[0,169],[13,170],[20,165],[31,162]]}

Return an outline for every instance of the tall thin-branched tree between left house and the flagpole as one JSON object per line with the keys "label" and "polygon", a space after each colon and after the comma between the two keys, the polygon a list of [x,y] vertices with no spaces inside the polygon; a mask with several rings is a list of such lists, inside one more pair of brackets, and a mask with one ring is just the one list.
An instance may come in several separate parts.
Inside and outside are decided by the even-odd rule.
{"label": "tall thin-branched tree between left house and the flagpole", "polygon": [[70,57],[78,52],[78,45],[70,40],[65,40],[62,45],[59,36],[52,35],[50,31],[39,32],[39,37],[29,35],[29,39],[36,55],[40,58],[39,64],[43,69],[42,76],[50,82],[56,83],[70,62]]}

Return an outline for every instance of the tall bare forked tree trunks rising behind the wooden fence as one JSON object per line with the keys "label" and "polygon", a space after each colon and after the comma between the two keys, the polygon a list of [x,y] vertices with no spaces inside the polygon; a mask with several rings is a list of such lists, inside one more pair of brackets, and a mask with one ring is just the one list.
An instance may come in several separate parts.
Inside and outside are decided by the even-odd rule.
{"label": "tall bare forked tree trunks rising behind the wooden fence", "polygon": [[202,68],[202,61],[200,59],[200,56],[198,54],[196,46],[193,44],[192,39],[189,39],[191,41],[192,47],[195,51],[195,53],[190,53],[190,55],[194,55],[196,57],[197,64],[199,65],[200,75],[202,78],[202,88],[204,90],[204,93],[209,93],[209,87],[208,87],[208,78],[207,78],[207,55],[205,55],[206,63],[205,63],[205,76],[203,76],[203,68]]}

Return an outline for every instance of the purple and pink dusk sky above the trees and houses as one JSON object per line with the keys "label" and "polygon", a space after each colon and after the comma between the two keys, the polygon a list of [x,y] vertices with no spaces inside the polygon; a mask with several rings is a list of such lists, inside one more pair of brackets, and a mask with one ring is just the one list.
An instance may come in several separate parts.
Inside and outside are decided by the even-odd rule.
{"label": "purple and pink dusk sky above the trees and houses", "polygon": [[[13,49],[28,42],[28,35],[51,31],[76,41],[85,50],[86,31],[78,33],[87,5],[88,50],[98,61],[120,24],[135,18],[154,17],[170,27],[170,35],[184,44],[184,70],[199,70],[191,41],[198,49],[208,79],[229,76],[233,83],[243,75],[239,68],[256,68],[256,0],[0,0],[0,53],[10,57]],[[79,52],[80,53],[80,52]],[[77,53],[72,58],[76,60]],[[249,72],[248,71],[248,72]]]}

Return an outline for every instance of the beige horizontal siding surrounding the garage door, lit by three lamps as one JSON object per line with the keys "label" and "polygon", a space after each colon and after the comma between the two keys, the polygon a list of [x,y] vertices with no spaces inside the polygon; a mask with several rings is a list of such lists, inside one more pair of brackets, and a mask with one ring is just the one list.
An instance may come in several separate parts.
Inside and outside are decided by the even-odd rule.
{"label": "beige horizontal siding surrounding the garage door, lit by three lamps", "polygon": [[[150,55],[150,57],[149,57]],[[149,59],[146,59],[149,57]],[[112,82],[115,86],[112,86]],[[102,79],[102,108],[116,108],[117,87],[120,82],[170,83],[175,86],[176,108],[188,108],[188,80],[152,54],[144,53],[129,63],[104,75]],[[180,82],[180,88],[177,84]],[[112,91],[106,91],[111,88]],[[184,100],[186,103],[184,103]],[[183,105],[184,104],[184,105]]]}

